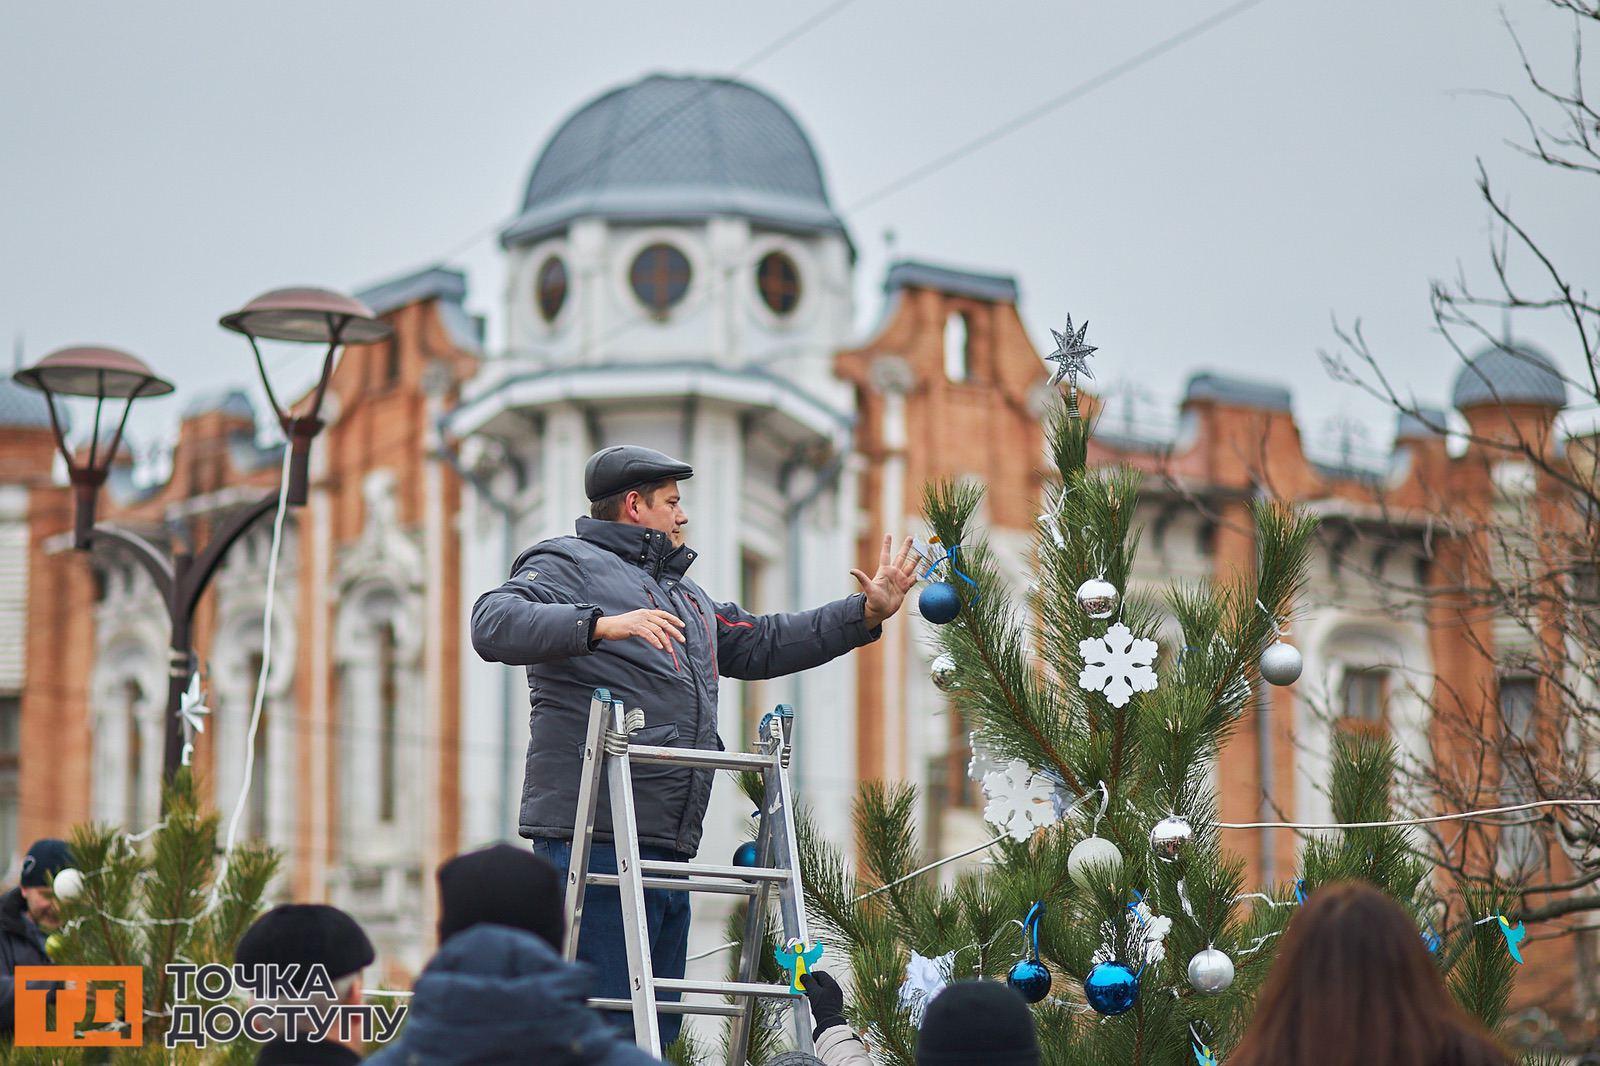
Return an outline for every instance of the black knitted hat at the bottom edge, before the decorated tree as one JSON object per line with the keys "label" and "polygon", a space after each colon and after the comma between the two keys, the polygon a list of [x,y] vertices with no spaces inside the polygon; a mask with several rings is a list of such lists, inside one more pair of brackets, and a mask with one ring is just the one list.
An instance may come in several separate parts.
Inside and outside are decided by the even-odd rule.
{"label": "black knitted hat at the bottom edge, before the decorated tree", "polygon": [[998,981],[958,981],[933,997],[917,1066],[1038,1066],[1034,1012]]}

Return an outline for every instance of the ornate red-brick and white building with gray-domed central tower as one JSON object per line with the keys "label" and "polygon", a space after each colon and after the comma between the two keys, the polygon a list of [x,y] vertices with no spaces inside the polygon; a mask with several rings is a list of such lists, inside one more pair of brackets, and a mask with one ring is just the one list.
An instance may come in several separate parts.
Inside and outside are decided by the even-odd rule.
{"label": "ornate red-brick and white building with gray-domed central tower", "polygon": [[[669,110],[666,128],[651,125]],[[800,154],[814,174],[795,179]],[[710,155],[720,170],[707,171]],[[752,174],[760,160],[781,173]],[[1051,389],[1016,282],[898,262],[878,325],[851,338],[848,232],[805,134],[771,98],[661,77],[602,96],[552,138],[502,242],[504,351],[485,351],[459,272],[360,293],[395,335],[349,349],[334,370],[310,499],[286,523],[259,773],[245,797],[248,831],[285,852],[278,895],[347,906],[395,973],[429,952],[437,863],[515,832],[526,693],[470,655],[467,615],[525,544],[570,530],[589,451],[637,440],[690,459],[696,576],[752,610],[848,592],[848,570],[870,570],[883,531],[922,531],[922,485],[934,477],[987,487],[981,517],[1018,583],[1037,531]],[[10,757],[21,759],[0,842],[14,855],[86,818],[154,816],[166,635],[136,567],[67,551],[70,493],[53,477],[48,424],[5,389],[0,576],[19,573],[22,591],[13,579],[0,597],[0,714],[16,720],[0,720],[0,741],[18,730]],[[1510,399],[1459,403],[1458,389],[1474,431],[1515,423],[1549,439],[1560,403]],[[218,515],[272,491],[280,458],[258,445],[245,394],[200,402],[178,429],[171,475],[144,490],[115,475],[101,519],[203,543]],[[1381,587],[1445,579],[1453,547],[1427,515],[1491,506],[1496,469],[1482,450],[1451,455],[1411,419],[1386,471],[1330,467],[1307,458],[1286,389],[1197,373],[1174,434],[1107,429],[1091,461],[1147,474],[1134,584],[1248,570],[1246,507],[1261,493],[1325,519],[1293,631],[1304,677],[1262,693],[1224,751],[1224,818],[1326,818],[1318,787],[1341,717],[1371,719],[1421,757],[1429,693],[1451,714],[1494,711],[1502,677],[1478,651],[1494,647],[1494,619],[1442,599],[1397,610]],[[1363,536],[1371,528],[1386,533],[1382,552]],[[261,671],[269,535],[261,523],[234,552],[197,623],[214,711],[197,771],[224,810],[238,797]],[[792,701],[798,787],[835,839],[848,839],[856,784],[883,778],[925,786],[931,850],[973,844],[982,826],[965,736],[928,677],[926,637],[907,611],[880,643],[802,679],[725,682],[723,736],[747,739],[762,709]],[[714,799],[709,855],[741,839],[739,807]],[[1298,842],[1261,831],[1229,845],[1251,879],[1278,880]],[[709,914],[696,925],[696,944],[720,940]],[[1563,941],[1571,965],[1530,970],[1523,994],[1592,1013],[1594,936]]]}

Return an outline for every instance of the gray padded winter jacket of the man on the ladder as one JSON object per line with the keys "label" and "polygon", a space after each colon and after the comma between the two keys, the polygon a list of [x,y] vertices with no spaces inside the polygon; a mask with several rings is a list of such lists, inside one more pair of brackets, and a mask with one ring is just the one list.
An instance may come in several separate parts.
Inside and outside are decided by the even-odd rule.
{"label": "gray padded winter jacket of the man on the ladder", "polygon": [[[637,743],[720,749],[717,677],[760,680],[821,666],[877,640],[861,594],[798,615],[749,615],[717,603],[685,576],[694,551],[666,533],[621,522],[578,520],[578,536],[534,544],[506,584],[472,605],[472,647],[490,663],[528,667],[525,837],[570,840],[578,810],[589,698],[608,688],[645,711]],[[594,619],[659,608],[683,619],[685,643],[666,651],[643,639],[592,640]],[[694,855],[710,800],[710,770],[635,767],[640,844]],[[611,834],[600,794],[595,832]]]}

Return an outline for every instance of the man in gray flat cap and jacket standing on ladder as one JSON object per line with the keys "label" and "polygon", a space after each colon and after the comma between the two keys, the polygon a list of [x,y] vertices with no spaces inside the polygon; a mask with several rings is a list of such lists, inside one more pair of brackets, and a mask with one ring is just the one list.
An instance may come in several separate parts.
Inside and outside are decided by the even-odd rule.
{"label": "man in gray flat cap and jacket standing on ladder", "polygon": [[[490,663],[528,667],[528,763],[520,832],[565,876],[571,858],[590,696],[610,690],[645,711],[638,744],[720,751],[717,677],[762,680],[821,666],[882,634],[917,579],[910,538],[891,559],[883,538],[875,575],[851,570],[861,592],[797,615],[746,613],[686,578],[678,482],[688,464],[651,448],[597,451],[584,467],[590,517],[576,536],[534,544],[510,578],[472,607],[472,647]],[[640,856],[688,861],[699,848],[712,770],[651,767],[634,776]],[[610,799],[602,794],[589,869],[616,872]],[[656,976],[682,978],[690,935],[686,892],[646,892]],[[590,887],[578,954],[598,970],[595,996],[629,996],[616,888]],[[661,1042],[680,1015],[661,1016]]]}

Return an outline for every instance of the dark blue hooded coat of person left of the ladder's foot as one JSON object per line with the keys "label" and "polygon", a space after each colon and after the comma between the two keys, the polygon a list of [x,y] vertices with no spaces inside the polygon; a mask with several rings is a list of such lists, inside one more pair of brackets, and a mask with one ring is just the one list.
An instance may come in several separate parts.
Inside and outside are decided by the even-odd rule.
{"label": "dark blue hooded coat of person left of the ladder's foot", "polygon": [[654,1063],[586,1005],[589,986],[589,967],[562,960],[533,933],[474,925],[445,941],[429,960],[400,1036],[368,1061],[382,1066]]}

